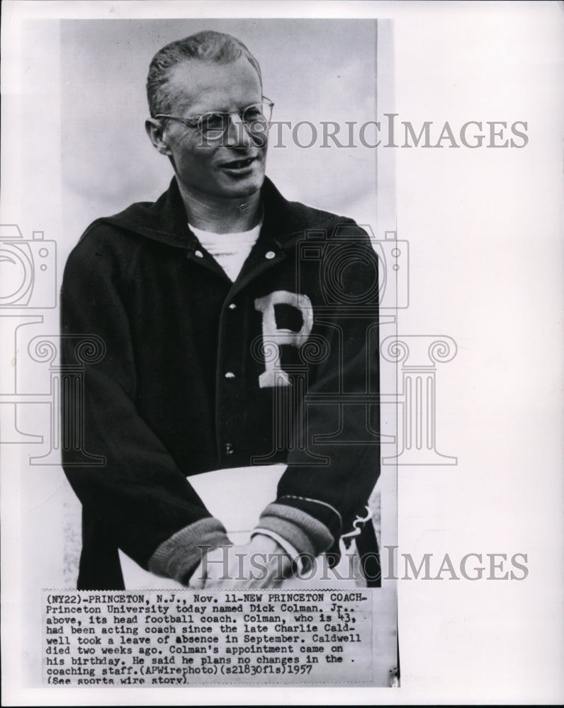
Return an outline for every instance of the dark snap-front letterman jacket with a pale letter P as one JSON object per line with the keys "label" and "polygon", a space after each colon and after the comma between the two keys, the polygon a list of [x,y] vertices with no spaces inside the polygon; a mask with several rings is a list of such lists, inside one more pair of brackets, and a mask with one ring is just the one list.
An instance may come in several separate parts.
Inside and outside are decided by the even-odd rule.
{"label": "dark snap-front letterman jacket with a pale letter P", "polygon": [[103,349],[62,396],[63,467],[83,507],[79,589],[123,588],[118,549],[187,583],[200,547],[229,542],[187,479],[213,469],[286,462],[258,526],[300,553],[334,551],[366,516],[376,255],[351,219],[288,202],[268,179],[261,195],[235,282],[188,228],[175,178],[157,202],[97,219],[69,256],[62,365],[76,369],[82,336]]}

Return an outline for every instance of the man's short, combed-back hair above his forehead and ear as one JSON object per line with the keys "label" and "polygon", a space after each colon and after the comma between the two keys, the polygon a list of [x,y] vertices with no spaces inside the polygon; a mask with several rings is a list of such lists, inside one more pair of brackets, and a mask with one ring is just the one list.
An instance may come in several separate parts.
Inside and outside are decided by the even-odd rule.
{"label": "man's short, combed-back hair above his forehead and ear", "polygon": [[231,64],[240,57],[247,57],[262,84],[261,67],[247,47],[232,35],[213,30],[203,30],[183,40],[176,40],[162,47],[152,58],[147,74],[147,101],[154,118],[159,113],[169,113],[174,94],[168,83],[171,70],[188,59],[200,59],[215,64]]}

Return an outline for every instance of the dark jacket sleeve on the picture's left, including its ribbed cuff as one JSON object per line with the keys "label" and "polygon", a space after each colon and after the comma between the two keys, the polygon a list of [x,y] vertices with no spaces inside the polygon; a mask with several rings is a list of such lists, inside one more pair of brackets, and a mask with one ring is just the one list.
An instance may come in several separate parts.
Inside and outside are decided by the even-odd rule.
{"label": "dark jacket sleeve on the picture's left, including its ribbed cuff", "polygon": [[[201,560],[198,544],[215,547],[228,539],[136,410],[135,355],[123,297],[132,256],[118,258],[100,227],[98,236],[96,229],[85,234],[64,270],[63,368],[77,367],[81,336],[96,336],[105,351],[84,365],[84,387],[62,396],[63,468],[91,533],[97,527],[140,566],[182,582]],[[84,444],[76,444],[77,428],[84,431]],[[83,447],[102,464],[85,464]]]}

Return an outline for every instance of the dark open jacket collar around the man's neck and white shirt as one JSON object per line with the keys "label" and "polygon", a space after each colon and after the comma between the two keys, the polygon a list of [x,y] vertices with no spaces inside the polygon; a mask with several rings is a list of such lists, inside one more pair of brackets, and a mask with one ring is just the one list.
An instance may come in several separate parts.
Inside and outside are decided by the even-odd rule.
{"label": "dark open jacket collar around the man's neck and white shirt", "polygon": [[[286,200],[268,177],[262,185],[261,198],[264,222],[260,238],[273,241],[280,248],[291,244],[305,229],[323,229],[334,224],[338,218],[329,212]],[[169,246],[193,248],[198,243],[196,236],[188,228],[186,210],[176,177],[172,178],[168,190],[156,202],[136,202],[123,212],[100,221]]]}

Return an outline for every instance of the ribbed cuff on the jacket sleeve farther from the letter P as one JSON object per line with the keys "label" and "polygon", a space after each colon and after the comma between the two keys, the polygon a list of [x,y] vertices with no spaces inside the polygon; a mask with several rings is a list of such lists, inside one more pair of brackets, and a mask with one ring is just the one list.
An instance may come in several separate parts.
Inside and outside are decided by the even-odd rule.
{"label": "ribbed cuff on the jacket sleeve farther from the letter P", "polygon": [[224,525],[213,517],[200,519],[162,542],[148,568],[155,575],[186,584],[203,554],[223,544],[231,544]]}

